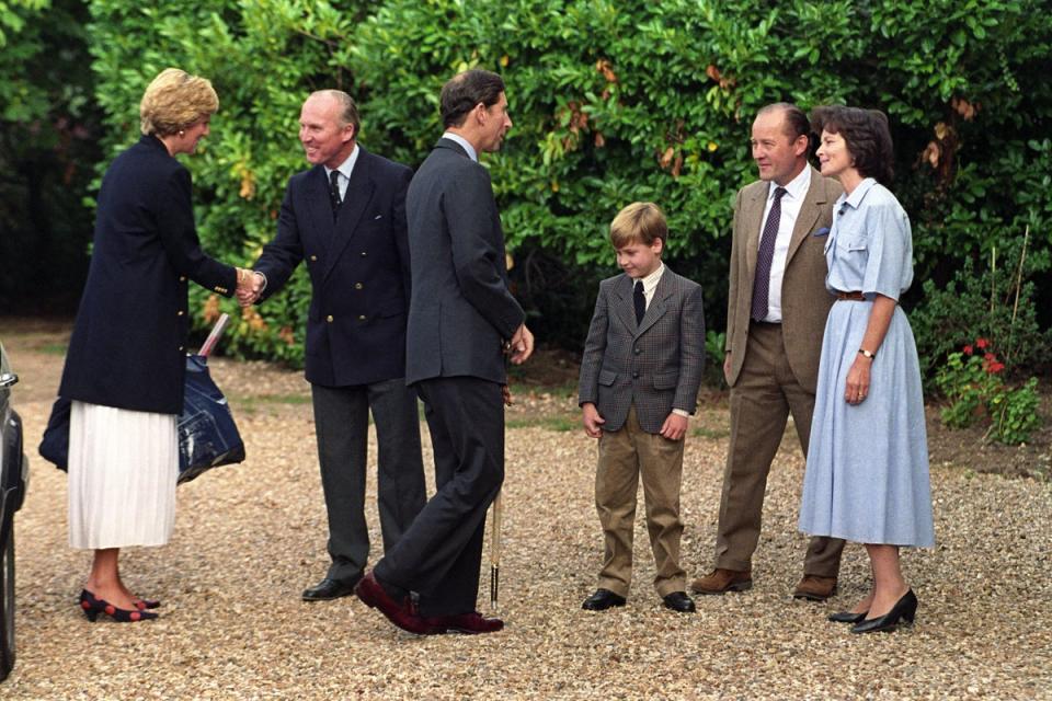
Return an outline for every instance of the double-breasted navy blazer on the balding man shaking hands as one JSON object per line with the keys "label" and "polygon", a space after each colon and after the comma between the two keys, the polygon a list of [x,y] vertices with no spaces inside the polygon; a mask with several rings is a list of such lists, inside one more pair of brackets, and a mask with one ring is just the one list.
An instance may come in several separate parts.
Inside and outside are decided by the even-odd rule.
{"label": "double-breasted navy blazer on the balding man shaking hands", "polygon": [[266,299],[306,261],[313,287],[306,375],[323,387],[405,376],[405,189],[413,172],[358,148],[338,221],[332,220],[324,168],[293,175],[277,237],[254,266],[266,275]]}

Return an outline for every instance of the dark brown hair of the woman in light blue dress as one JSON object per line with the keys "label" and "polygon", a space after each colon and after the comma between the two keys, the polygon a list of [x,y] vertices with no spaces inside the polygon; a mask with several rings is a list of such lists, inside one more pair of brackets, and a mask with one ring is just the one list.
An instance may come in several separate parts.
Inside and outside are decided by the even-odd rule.
{"label": "dark brown hair of the woman in light blue dress", "polygon": [[891,185],[894,151],[888,115],[883,112],[844,105],[815,107],[811,111],[811,126],[820,136],[822,131],[839,134],[862,177],[876,177],[881,185]]}

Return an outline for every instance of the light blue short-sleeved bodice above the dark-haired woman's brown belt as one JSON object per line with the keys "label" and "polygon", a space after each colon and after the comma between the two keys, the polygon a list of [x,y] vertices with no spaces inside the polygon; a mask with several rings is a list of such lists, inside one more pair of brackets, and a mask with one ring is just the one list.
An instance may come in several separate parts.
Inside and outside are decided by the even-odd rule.
{"label": "light blue short-sleeved bodice above the dark-haired woman's brown belt", "polygon": [[910,217],[883,185],[867,177],[833,208],[825,242],[825,287],[836,292],[883,295],[897,300],[913,283]]}

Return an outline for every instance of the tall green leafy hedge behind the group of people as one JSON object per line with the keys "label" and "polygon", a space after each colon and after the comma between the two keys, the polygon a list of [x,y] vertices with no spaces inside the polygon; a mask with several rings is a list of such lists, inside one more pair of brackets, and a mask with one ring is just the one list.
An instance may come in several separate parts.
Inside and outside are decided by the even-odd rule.
{"label": "tall green leafy hedge behind the group of people", "polygon": [[[987,0],[453,0],[90,2],[108,153],[135,138],[147,81],[170,65],[213,79],[220,112],[187,159],[206,249],[245,264],[274,234],[306,94],[347,90],[363,142],[416,165],[441,133],[454,72],[500,71],[515,126],[489,157],[519,294],[542,341],[583,338],[594,281],[614,271],[606,229],[658,202],[672,264],[705,287],[723,327],[734,192],[754,177],[756,110],[846,102],[891,116],[895,189],[914,222],[917,284],[941,289],[1021,238],[1052,249],[1052,30],[1044,3]],[[104,166],[104,164],[103,164]],[[1038,300],[1052,292],[1047,280]],[[297,363],[302,275],[250,313],[228,347]],[[195,292],[203,325],[214,301]],[[235,311],[229,301],[220,304]],[[1049,319],[1041,320],[1044,327]],[[980,330],[981,331],[981,330]],[[976,331],[961,330],[961,343]],[[923,340],[922,340],[923,341]]]}

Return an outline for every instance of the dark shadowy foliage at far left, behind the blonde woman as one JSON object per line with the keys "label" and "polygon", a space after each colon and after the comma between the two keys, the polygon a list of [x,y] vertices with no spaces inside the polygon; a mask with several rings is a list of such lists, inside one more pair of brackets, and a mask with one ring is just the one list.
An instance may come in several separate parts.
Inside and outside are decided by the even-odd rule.
{"label": "dark shadowy foliage at far left, behind the blonde woman", "polygon": [[78,0],[0,0],[0,309],[76,309],[99,159]]}

